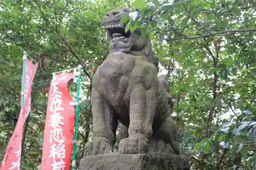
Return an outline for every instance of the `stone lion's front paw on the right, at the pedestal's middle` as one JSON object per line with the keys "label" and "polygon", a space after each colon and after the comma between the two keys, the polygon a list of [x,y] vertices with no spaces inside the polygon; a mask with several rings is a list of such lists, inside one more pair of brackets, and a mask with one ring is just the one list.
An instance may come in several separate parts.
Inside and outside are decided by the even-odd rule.
{"label": "stone lion's front paw on the right, at the pedestal's middle", "polygon": [[120,140],[119,153],[121,154],[144,154],[148,151],[148,139],[144,135],[130,135]]}

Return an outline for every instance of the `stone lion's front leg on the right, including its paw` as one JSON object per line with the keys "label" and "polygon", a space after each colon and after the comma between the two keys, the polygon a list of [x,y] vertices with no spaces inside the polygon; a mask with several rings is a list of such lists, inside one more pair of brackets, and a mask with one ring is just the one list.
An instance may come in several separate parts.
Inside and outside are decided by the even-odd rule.
{"label": "stone lion's front leg on the right, including its paw", "polygon": [[129,137],[119,142],[119,152],[124,154],[147,153],[148,138],[152,137],[152,123],[156,110],[156,90],[145,90],[135,85],[130,99]]}

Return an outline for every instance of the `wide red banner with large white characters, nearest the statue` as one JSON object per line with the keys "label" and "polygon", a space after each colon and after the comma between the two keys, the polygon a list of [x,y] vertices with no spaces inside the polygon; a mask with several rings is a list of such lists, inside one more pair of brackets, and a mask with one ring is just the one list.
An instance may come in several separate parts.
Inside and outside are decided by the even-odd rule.
{"label": "wide red banner with large white characters, nearest the statue", "polygon": [[51,81],[41,170],[69,170],[73,147],[75,109],[68,91],[72,73],[55,75]]}

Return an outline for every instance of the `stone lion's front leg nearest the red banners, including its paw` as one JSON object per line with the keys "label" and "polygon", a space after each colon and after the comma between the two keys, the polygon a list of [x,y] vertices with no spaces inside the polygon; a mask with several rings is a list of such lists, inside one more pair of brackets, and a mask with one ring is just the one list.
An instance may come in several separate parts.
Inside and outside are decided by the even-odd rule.
{"label": "stone lion's front leg nearest the red banners, including its paw", "polygon": [[94,88],[91,93],[93,141],[86,143],[86,156],[112,153],[116,140],[117,119],[109,102]]}

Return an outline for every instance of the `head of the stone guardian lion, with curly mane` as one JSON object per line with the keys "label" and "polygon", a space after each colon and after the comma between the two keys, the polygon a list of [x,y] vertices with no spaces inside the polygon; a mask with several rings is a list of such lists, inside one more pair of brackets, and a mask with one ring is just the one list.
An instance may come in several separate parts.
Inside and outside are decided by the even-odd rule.
{"label": "head of the stone guardian lion, with curly mane", "polygon": [[103,27],[106,29],[110,41],[110,53],[123,52],[146,56],[158,67],[158,58],[153,57],[152,44],[148,34],[142,37],[140,29],[136,29],[133,33],[130,30],[125,33],[127,23],[120,24],[122,17],[129,15],[130,12],[129,8],[114,9],[106,13],[103,18]]}

